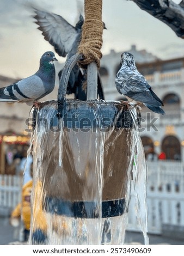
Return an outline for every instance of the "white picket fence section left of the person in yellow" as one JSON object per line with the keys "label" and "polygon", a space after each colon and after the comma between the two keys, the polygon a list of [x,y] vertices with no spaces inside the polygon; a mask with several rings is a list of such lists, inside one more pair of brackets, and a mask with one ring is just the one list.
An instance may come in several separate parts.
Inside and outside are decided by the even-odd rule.
{"label": "white picket fence section left of the person in yellow", "polygon": [[[0,213],[10,212],[21,200],[22,178],[0,175]],[[7,211],[8,210],[8,211]]]}

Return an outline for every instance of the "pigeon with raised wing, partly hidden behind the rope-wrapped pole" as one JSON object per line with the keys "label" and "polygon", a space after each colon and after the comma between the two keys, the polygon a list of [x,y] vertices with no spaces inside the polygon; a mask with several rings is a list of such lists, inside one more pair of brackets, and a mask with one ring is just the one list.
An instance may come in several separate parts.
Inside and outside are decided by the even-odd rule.
{"label": "pigeon with raised wing, partly hidden behind the rope-wrapped pole", "polygon": [[[67,55],[67,59],[69,59],[76,54],[79,42],[81,41],[82,25],[84,23],[83,16],[79,16],[79,21],[76,23],[76,26],[73,27],[60,15],[38,10],[34,7],[33,9],[36,14],[34,16],[36,20],[35,23],[39,25],[38,29],[42,31],[45,40],[54,46],[59,56],[66,57]],[[60,78],[62,70],[58,75]],[[98,74],[98,76],[100,76],[100,74]],[[87,70],[80,69],[76,64],[71,71],[66,93],[74,93],[75,99],[86,100],[87,96],[82,88],[86,77]],[[98,77],[98,95],[100,99],[104,99],[100,77]]]}

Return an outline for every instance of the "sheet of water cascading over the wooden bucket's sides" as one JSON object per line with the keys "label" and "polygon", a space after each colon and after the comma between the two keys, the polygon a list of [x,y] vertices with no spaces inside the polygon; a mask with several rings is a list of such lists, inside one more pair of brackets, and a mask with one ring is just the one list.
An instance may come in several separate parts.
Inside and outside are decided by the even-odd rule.
{"label": "sheet of water cascading over the wooden bucket's sides", "polygon": [[[33,108],[30,244],[122,245],[131,190],[147,236],[146,164],[139,109],[115,101],[67,100]],[[32,127],[33,129],[33,127]]]}

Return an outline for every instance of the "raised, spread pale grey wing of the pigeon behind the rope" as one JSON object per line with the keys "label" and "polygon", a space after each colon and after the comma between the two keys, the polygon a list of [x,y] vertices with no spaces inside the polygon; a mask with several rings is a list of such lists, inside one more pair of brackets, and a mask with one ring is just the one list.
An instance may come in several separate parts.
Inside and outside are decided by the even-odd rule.
{"label": "raised, spread pale grey wing of the pigeon behind the rope", "polygon": [[70,25],[62,16],[35,9],[35,23],[42,31],[45,40],[54,46],[59,56],[65,57],[72,50],[77,39],[77,29]]}

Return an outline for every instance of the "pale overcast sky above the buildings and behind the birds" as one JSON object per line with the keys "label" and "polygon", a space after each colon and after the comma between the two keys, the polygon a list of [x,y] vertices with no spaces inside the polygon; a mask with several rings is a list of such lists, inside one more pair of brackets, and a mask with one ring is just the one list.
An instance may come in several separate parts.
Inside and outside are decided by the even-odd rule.
{"label": "pale overcast sky above the buildings and behind the birds", "polygon": [[[79,16],[77,2],[83,0],[1,0],[0,5],[0,75],[27,77],[39,68],[39,59],[53,47],[36,29],[32,10],[26,4],[32,2],[47,11],[62,15],[75,25]],[[175,0],[174,2],[179,3]],[[147,50],[157,57],[167,59],[184,56],[184,40],[163,22],[141,10],[134,2],[103,0],[102,19],[107,31],[103,33],[102,53],[111,49],[123,52],[136,44],[138,50]],[[59,63],[64,62],[56,54]]]}

